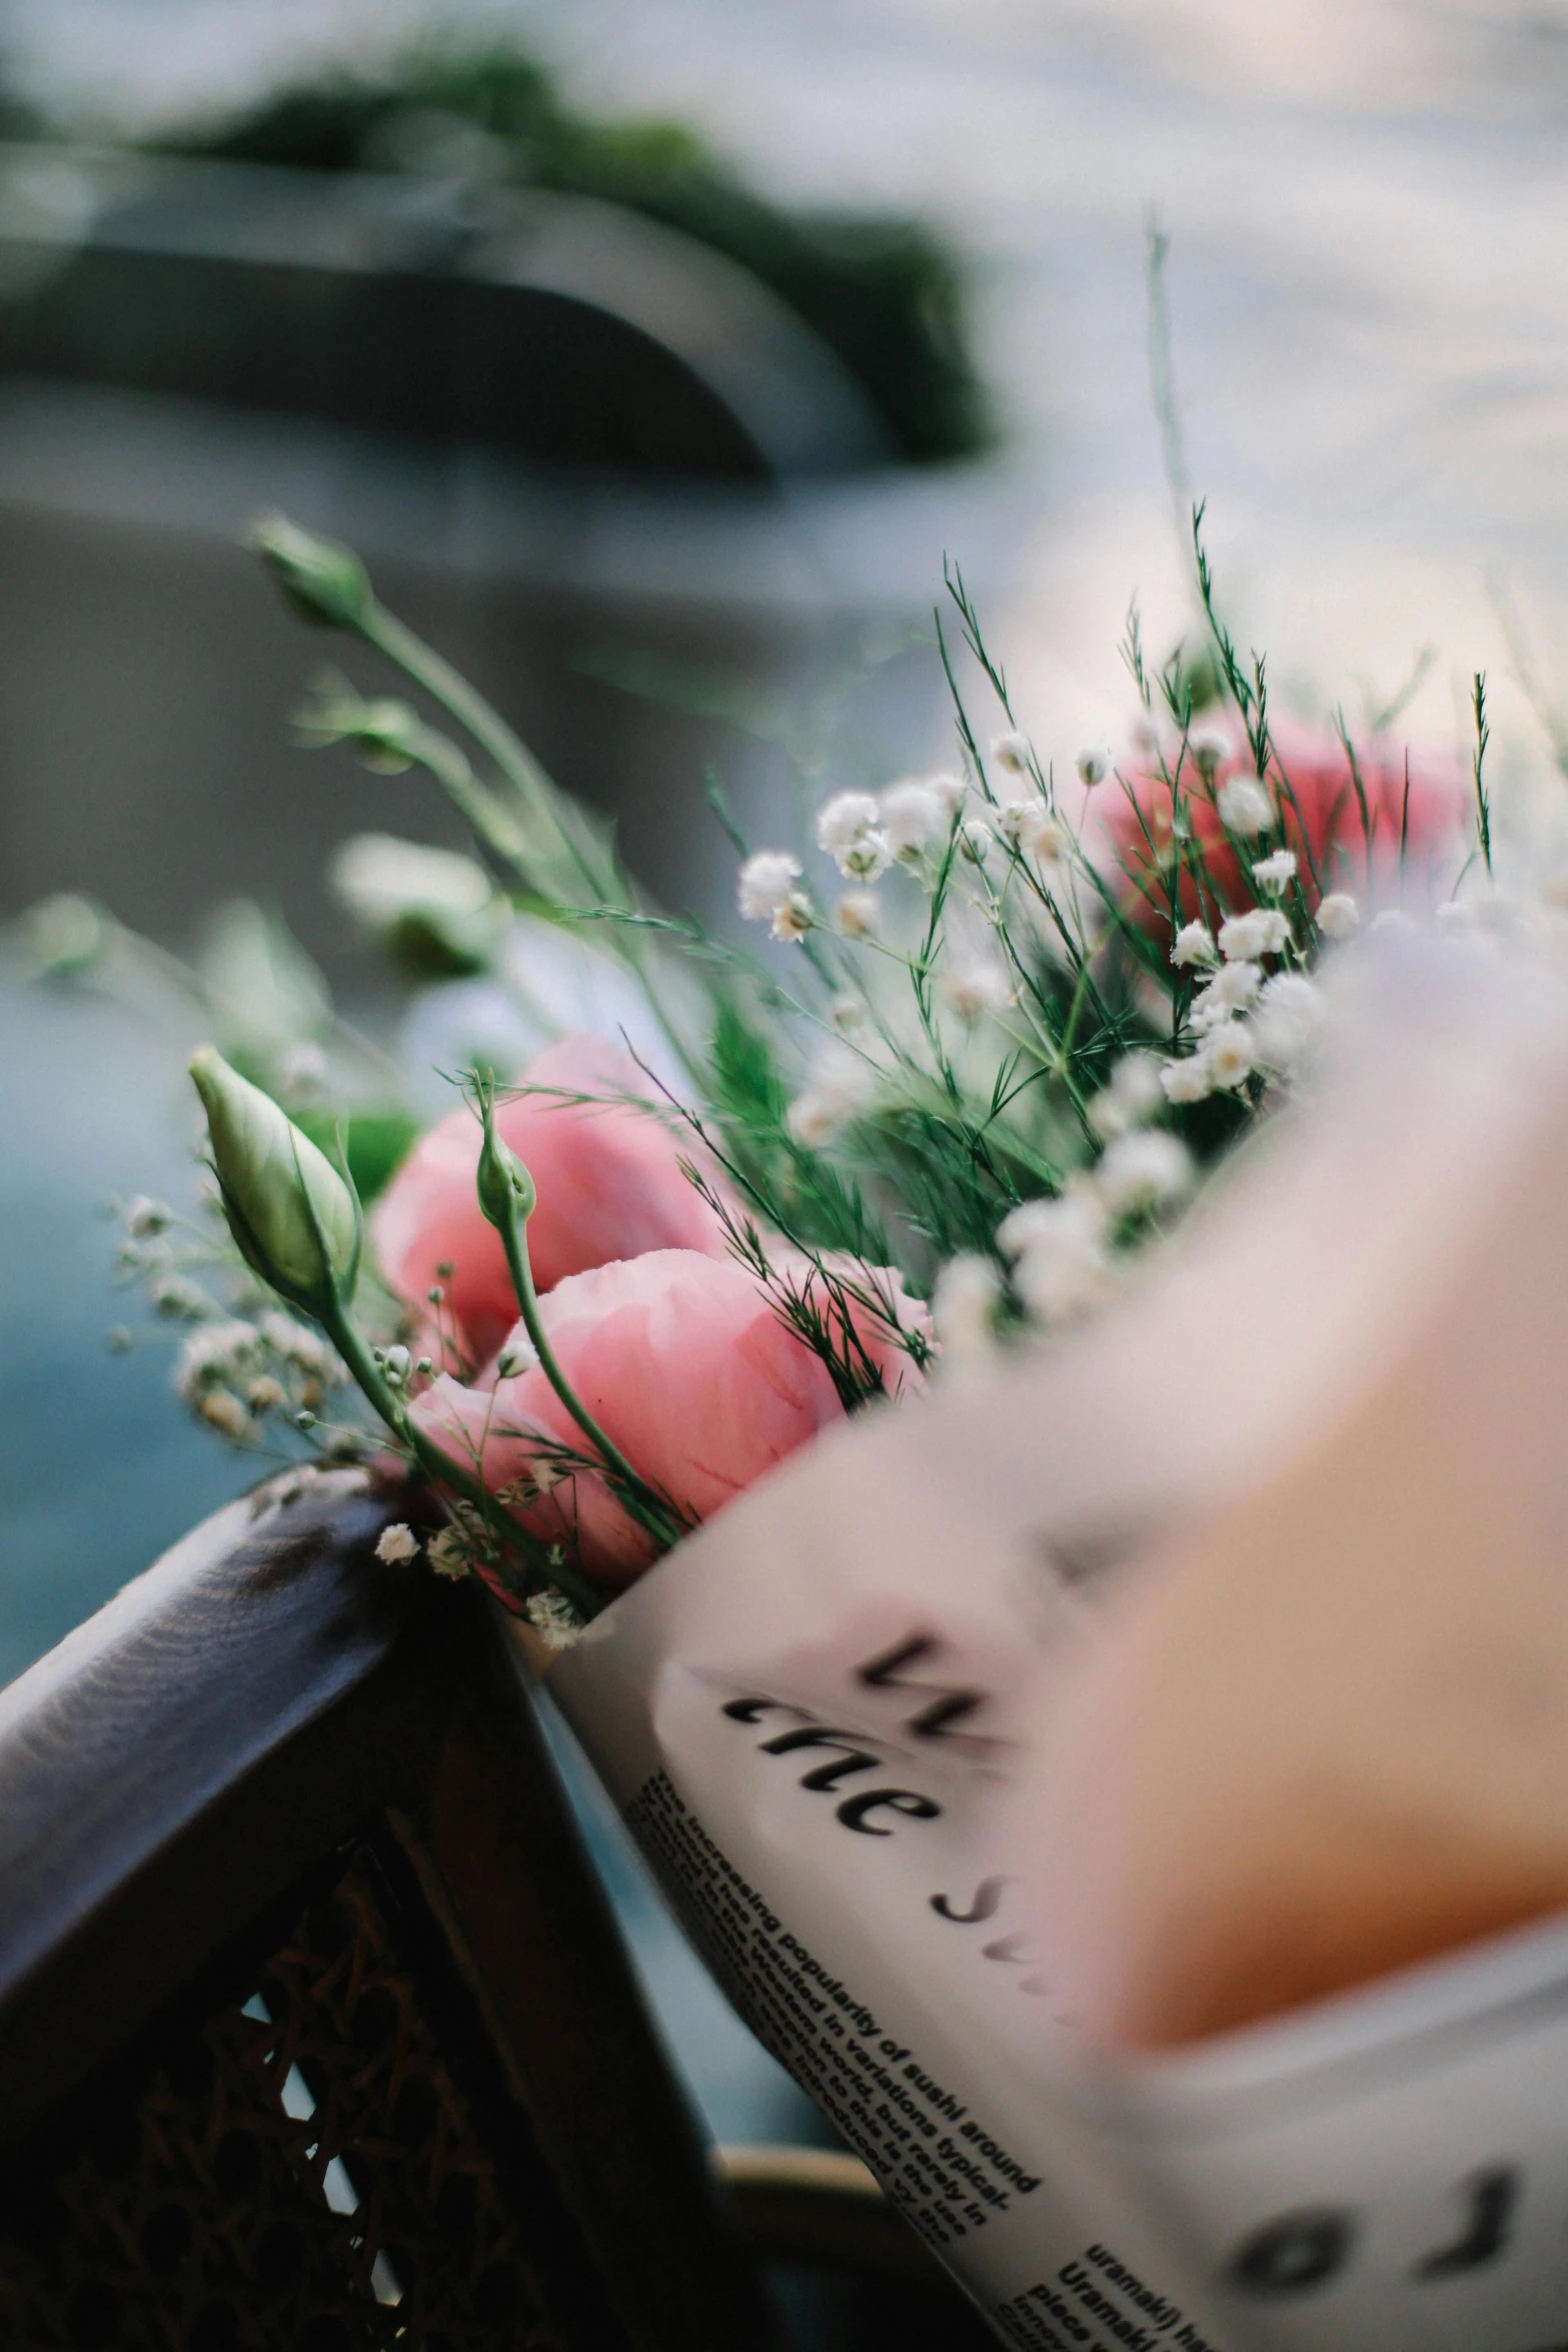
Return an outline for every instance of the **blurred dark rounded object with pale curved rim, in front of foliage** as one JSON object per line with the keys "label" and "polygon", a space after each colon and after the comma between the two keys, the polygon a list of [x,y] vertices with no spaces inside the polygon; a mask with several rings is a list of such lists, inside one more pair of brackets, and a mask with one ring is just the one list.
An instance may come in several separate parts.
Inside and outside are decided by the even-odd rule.
{"label": "blurred dark rounded object with pale curved rim, in front of foliage", "polygon": [[891,454],[839,358],[693,238],[369,172],[0,151],[0,367],[545,466],[769,480]]}

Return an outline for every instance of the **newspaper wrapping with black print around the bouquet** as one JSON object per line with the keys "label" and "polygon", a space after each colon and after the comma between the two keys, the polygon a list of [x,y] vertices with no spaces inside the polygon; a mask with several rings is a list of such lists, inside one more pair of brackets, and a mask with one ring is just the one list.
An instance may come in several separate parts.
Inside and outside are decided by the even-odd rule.
{"label": "newspaper wrapping with black print around the bouquet", "polygon": [[[741,2016],[1025,2352],[1568,2343],[1568,1924],[1110,2063],[1032,1964],[1006,1851],[999,1792],[1103,1578],[1281,1442],[1352,1319],[1399,1322],[1568,1101],[1561,1000],[1408,955],[1371,988],[1312,1117],[1135,1303],[818,1442],[550,1672]],[[1173,1390],[1159,1336],[1222,1364],[1225,1301],[1286,1263],[1291,1348],[1218,1406]]]}

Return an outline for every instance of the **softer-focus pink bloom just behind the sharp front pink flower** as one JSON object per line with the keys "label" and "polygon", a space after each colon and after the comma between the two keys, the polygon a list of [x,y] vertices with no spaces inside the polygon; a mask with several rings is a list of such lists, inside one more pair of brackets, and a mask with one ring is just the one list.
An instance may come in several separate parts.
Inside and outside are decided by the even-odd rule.
{"label": "softer-focus pink bloom just behind the sharp front pink flower", "polygon": [[[599,1037],[557,1037],[520,1084],[599,1096],[649,1091],[637,1063]],[[719,1218],[679,1171],[689,1145],[654,1112],[522,1094],[496,1108],[496,1131],[538,1190],[529,1258],[541,1291],[649,1249],[722,1256]],[[463,1105],[418,1138],[371,1211],[371,1237],[404,1305],[423,1317],[428,1289],[444,1282],[461,1343],[487,1357],[512,1329],[517,1298],[501,1235],[480,1214],[477,1167],[480,1122]],[[451,1275],[437,1275],[437,1265],[451,1265]]]}

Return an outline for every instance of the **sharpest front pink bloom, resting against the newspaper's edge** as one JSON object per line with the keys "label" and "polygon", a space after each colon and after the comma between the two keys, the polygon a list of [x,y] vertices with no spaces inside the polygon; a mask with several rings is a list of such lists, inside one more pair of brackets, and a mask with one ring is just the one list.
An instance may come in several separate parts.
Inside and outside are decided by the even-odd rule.
{"label": "sharpest front pink bloom, resting against the newspaper's edge", "polygon": [[[835,1270],[851,1272],[842,1261]],[[922,1317],[896,1275],[853,1268],[853,1279],[886,1294],[900,1319]],[[691,1524],[844,1418],[823,1359],[785,1329],[769,1294],[733,1258],[691,1249],[621,1258],[569,1275],[541,1315],[576,1397]],[[889,1392],[919,1385],[879,1317],[858,1305],[851,1315],[865,1352],[886,1367]],[[512,1338],[527,1343],[522,1327]],[[548,1465],[541,1437],[588,1451],[538,1364],[510,1381],[498,1381],[491,1364],[473,1388],[444,1376],[414,1416],[491,1494]],[[588,1470],[517,1503],[517,1517],[541,1541],[564,1543],[607,1585],[630,1583],[654,1559],[651,1538]]]}

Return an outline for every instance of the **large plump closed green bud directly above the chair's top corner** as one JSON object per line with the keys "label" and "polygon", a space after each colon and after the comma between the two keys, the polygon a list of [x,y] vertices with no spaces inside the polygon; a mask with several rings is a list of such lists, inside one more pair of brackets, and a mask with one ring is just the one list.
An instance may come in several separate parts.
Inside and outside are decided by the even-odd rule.
{"label": "large plump closed green bud directly above the chair's top corner", "polygon": [[270,1094],[197,1047],[190,1077],[207,1110],[212,1167],[240,1256],[280,1298],[317,1319],[353,1294],[360,1207],[331,1160]]}

